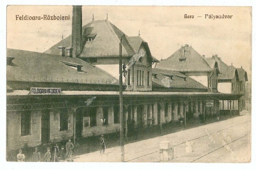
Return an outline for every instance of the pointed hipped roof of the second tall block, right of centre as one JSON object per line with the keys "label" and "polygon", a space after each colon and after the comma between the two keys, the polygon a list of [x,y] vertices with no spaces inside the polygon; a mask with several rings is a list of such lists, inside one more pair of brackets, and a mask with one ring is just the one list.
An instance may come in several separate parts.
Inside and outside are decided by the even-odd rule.
{"label": "pointed hipped roof of the second tall block, right of centre", "polygon": [[[180,59],[186,58],[185,61]],[[205,59],[192,47],[185,45],[173,53],[170,57],[161,60],[156,68],[173,70],[177,72],[210,72],[212,68]]]}

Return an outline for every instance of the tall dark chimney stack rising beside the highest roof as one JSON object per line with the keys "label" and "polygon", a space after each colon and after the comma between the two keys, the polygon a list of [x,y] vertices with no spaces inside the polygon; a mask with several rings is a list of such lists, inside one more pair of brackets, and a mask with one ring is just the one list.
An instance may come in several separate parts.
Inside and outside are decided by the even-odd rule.
{"label": "tall dark chimney stack rising beside the highest roof", "polygon": [[77,57],[82,52],[82,6],[73,5],[72,16],[72,56]]}

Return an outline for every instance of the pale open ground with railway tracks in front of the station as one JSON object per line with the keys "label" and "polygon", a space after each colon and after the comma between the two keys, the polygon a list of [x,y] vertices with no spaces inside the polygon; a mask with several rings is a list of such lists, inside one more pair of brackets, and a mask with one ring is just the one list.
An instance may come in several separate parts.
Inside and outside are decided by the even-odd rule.
{"label": "pale open ground with railway tracks in front of the station", "polygon": [[[251,115],[245,114],[156,138],[128,143],[124,146],[125,162],[160,162],[159,143],[163,140],[172,142],[175,152],[174,159],[167,162],[233,162],[234,160],[248,162],[251,158],[250,128]],[[185,150],[187,141],[193,142],[191,153]],[[241,147],[244,148],[241,149]],[[234,153],[236,148],[240,151],[241,160],[232,157],[229,157],[230,161],[221,159],[225,154]],[[104,155],[100,155],[98,151],[78,155],[74,162],[120,162],[120,146],[106,148]]]}

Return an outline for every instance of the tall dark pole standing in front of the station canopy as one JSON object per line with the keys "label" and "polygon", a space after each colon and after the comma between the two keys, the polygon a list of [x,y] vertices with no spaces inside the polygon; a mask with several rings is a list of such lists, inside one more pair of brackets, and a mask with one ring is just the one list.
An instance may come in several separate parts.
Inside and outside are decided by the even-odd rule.
{"label": "tall dark pole standing in front of the station canopy", "polygon": [[120,146],[121,146],[121,162],[124,162],[124,122],[123,122],[123,75],[122,75],[122,39],[119,43],[119,112],[120,112]]}

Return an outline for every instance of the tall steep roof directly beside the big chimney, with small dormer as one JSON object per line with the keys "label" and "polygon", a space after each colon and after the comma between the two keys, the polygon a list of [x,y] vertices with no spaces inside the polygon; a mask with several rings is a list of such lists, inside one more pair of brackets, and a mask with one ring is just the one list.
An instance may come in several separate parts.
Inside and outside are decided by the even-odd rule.
{"label": "tall steep roof directly beside the big chimney, with small dormer", "polygon": [[[119,43],[122,35],[125,35],[109,20],[93,20],[82,27],[83,31],[83,51],[78,56],[79,58],[88,57],[118,57]],[[95,36],[92,41],[86,41],[86,37]],[[144,43],[146,49],[147,43],[139,36],[127,36],[122,39],[122,56],[132,57],[138,51],[140,46]],[[71,35],[61,40],[59,43],[45,51],[46,54],[59,55],[58,46],[71,47]],[[149,51],[149,50],[148,50]],[[149,57],[151,57],[149,51]],[[154,60],[154,59],[152,59]]]}

